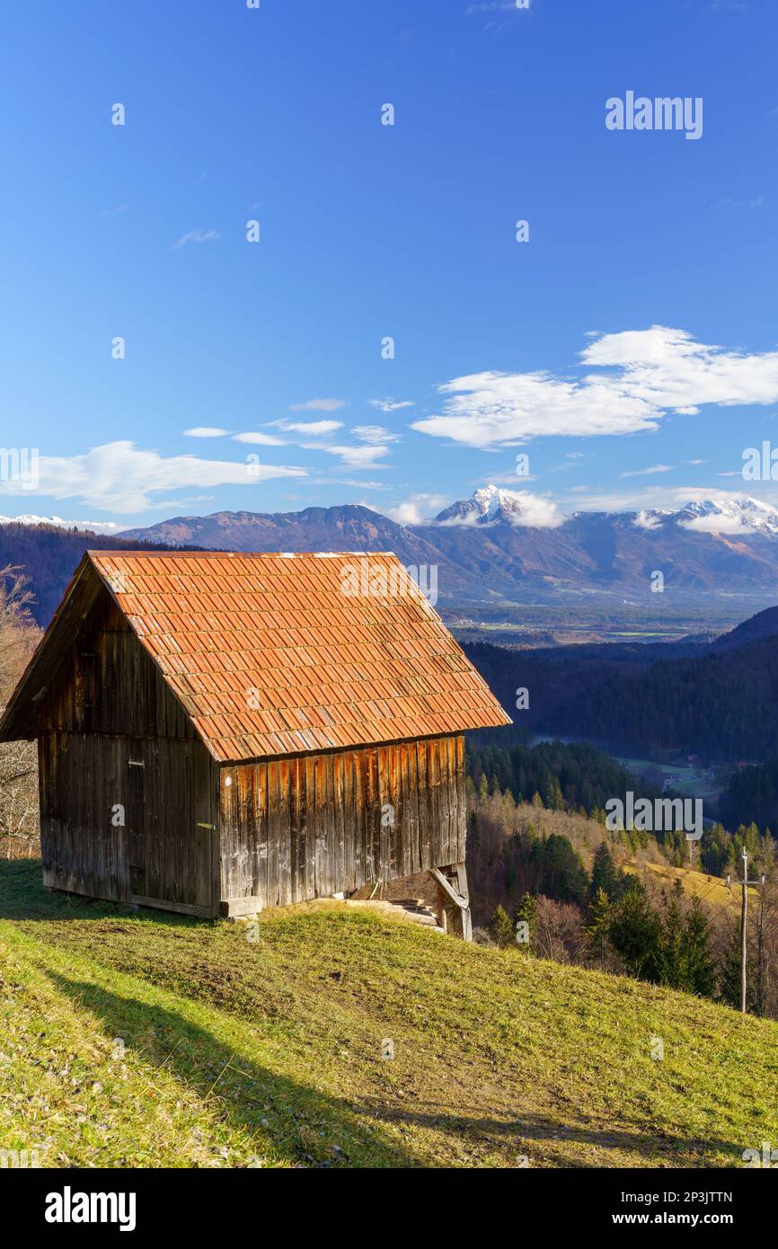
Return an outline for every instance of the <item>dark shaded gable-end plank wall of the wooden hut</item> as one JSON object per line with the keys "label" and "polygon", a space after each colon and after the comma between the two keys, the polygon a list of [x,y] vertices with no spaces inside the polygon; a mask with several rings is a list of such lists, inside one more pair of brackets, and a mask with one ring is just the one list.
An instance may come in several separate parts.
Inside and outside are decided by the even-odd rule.
{"label": "dark shaded gable-end plank wall of the wooden hut", "polygon": [[44,884],[216,914],[219,766],[107,591],[37,714]]}

